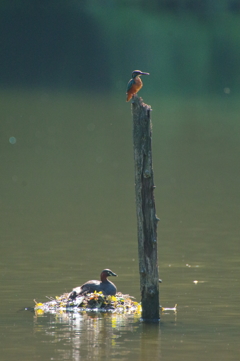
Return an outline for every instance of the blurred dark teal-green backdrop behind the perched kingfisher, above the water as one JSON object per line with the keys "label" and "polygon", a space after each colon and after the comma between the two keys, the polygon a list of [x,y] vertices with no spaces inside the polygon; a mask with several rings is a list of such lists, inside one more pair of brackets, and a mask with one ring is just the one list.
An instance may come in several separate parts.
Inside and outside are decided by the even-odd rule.
{"label": "blurred dark teal-green backdrop behind the perched kingfisher, above the water", "polygon": [[[1,1],[0,85],[159,94],[239,92],[238,0]],[[150,90],[149,90],[150,91]]]}

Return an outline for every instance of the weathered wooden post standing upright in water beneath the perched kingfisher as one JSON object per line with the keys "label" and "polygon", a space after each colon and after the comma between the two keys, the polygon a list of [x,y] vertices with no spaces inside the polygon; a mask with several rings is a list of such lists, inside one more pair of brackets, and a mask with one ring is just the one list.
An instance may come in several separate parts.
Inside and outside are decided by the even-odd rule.
{"label": "weathered wooden post standing upright in water beneath the perched kingfisher", "polygon": [[152,168],[151,107],[132,98],[135,192],[142,318],[159,321],[157,223]]}

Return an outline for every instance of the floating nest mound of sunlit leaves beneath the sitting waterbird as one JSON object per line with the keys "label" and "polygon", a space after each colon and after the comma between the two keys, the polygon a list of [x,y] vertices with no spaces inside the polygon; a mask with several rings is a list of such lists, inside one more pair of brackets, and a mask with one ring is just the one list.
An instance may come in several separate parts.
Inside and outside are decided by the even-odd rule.
{"label": "floating nest mound of sunlit leaves beneath the sitting waterbird", "polygon": [[49,298],[45,303],[36,303],[35,312],[37,315],[43,313],[63,312],[112,312],[121,314],[141,314],[142,307],[138,302],[133,301],[134,297],[123,295],[118,292],[115,296],[104,296],[102,292],[89,293],[77,296],[74,300],[69,299],[69,293],[64,293],[55,298]]}

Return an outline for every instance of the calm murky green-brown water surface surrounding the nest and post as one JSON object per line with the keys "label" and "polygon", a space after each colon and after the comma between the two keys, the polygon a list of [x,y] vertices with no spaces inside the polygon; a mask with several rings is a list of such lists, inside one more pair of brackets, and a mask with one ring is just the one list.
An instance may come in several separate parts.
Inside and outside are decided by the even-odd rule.
{"label": "calm murky green-brown water surface surrounding the nest and post", "polygon": [[[238,99],[153,108],[160,325],[24,311],[103,268],[140,300],[130,104],[120,96],[1,93],[1,360],[239,357]],[[198,281],[195,282],[194,281]]]}

